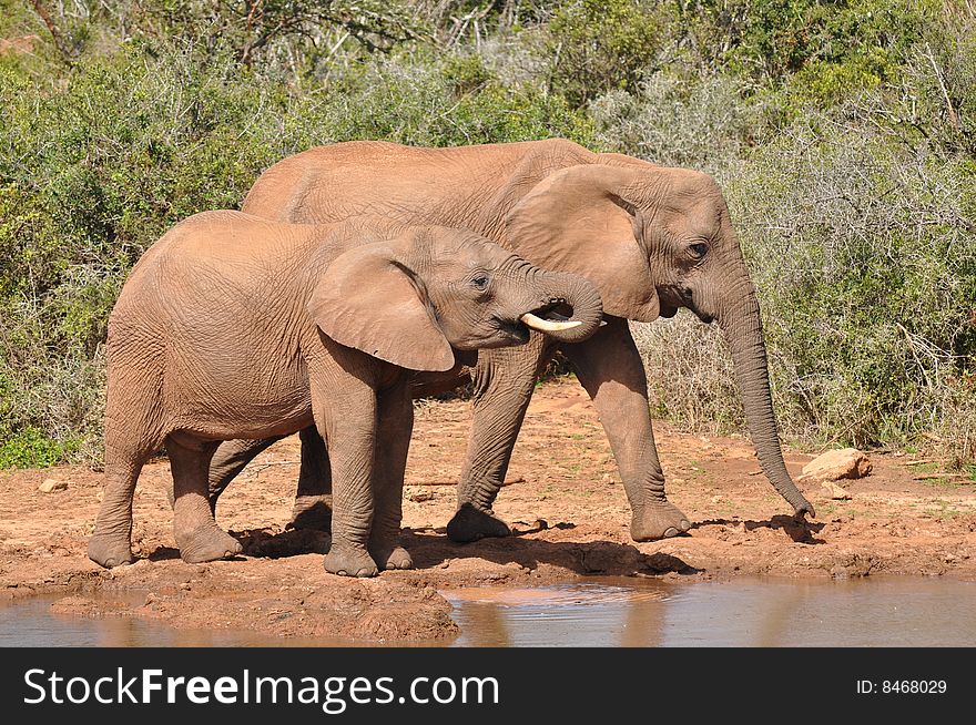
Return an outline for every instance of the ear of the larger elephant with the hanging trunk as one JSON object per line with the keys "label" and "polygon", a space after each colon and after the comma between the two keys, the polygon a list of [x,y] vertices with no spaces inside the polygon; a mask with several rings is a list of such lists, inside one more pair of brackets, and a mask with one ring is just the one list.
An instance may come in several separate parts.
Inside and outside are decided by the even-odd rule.
{"label": "ear of the larger elephant with the hanging trunk", "polygon": [[511,248],[548,269],[572,272],[597,285],[603,312],[639,321],[660,314],[640,212],[627,201],[642,170],[582,164],[561,169],[508,213]]}

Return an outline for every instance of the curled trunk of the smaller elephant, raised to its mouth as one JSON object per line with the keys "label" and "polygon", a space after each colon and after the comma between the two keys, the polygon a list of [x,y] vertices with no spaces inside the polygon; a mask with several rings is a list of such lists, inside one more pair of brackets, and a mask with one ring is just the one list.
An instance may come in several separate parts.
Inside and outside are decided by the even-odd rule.
{"label": "curled trunk of the smaller elephant, raised to its mouth", "polygon": [[[528,327],[560,343],[581,343],[600,327],[603,303],[588,279],[563,272],[537,272],[532,288],[536,307],[520,316]],[[563,307],[569,308],[569,317],[557,312]]]}

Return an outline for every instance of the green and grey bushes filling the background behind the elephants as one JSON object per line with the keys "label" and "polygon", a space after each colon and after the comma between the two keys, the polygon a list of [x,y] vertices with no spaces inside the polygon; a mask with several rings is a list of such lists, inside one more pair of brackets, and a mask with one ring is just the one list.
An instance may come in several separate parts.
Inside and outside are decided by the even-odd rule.
{"label": "green and grey bushes filling the background behind the elephants", "polygon": [[[0,0],[0,468],[100,457],[105,320],[167,226],[311,145],[570,137],[715,175],[794,440],[976,460],[964,0]],[[652,406],[742,422],[693,316]]]}

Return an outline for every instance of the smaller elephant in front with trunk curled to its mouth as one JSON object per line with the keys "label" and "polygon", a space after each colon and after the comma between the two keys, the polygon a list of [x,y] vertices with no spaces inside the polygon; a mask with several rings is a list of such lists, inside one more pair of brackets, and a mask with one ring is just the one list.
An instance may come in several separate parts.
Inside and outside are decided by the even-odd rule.
{"label": "smaller elephant in front with trunk curled to its mouth", "polygon": [[580,341],[601,314],[588,280],[466,229],[191,216],[145,252],[109,318],[105,484],[89,558],[133,561],[135,483],[161,446],[183,560],[238,553],[207,504],[220,441],[314,425],[335,487],[325,569],[407,569],[398,537],[410,375],[472,365],[475,350],[523,345],[530,328]]}

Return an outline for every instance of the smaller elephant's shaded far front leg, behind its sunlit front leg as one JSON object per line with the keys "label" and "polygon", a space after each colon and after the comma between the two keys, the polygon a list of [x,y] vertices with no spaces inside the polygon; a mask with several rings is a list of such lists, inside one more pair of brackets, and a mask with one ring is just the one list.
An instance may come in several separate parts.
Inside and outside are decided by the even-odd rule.
{"label": "smaller elephant's shaded far front leg, behind its sunlit front leg", "polygon": [[404,520],[404,474],[414,430],[414,404],[404,381],[384,390],[376,421],[376,458],[373,471],[375,512],[369,553],[380,569],[413,569],[407,550],[399,545]]}

